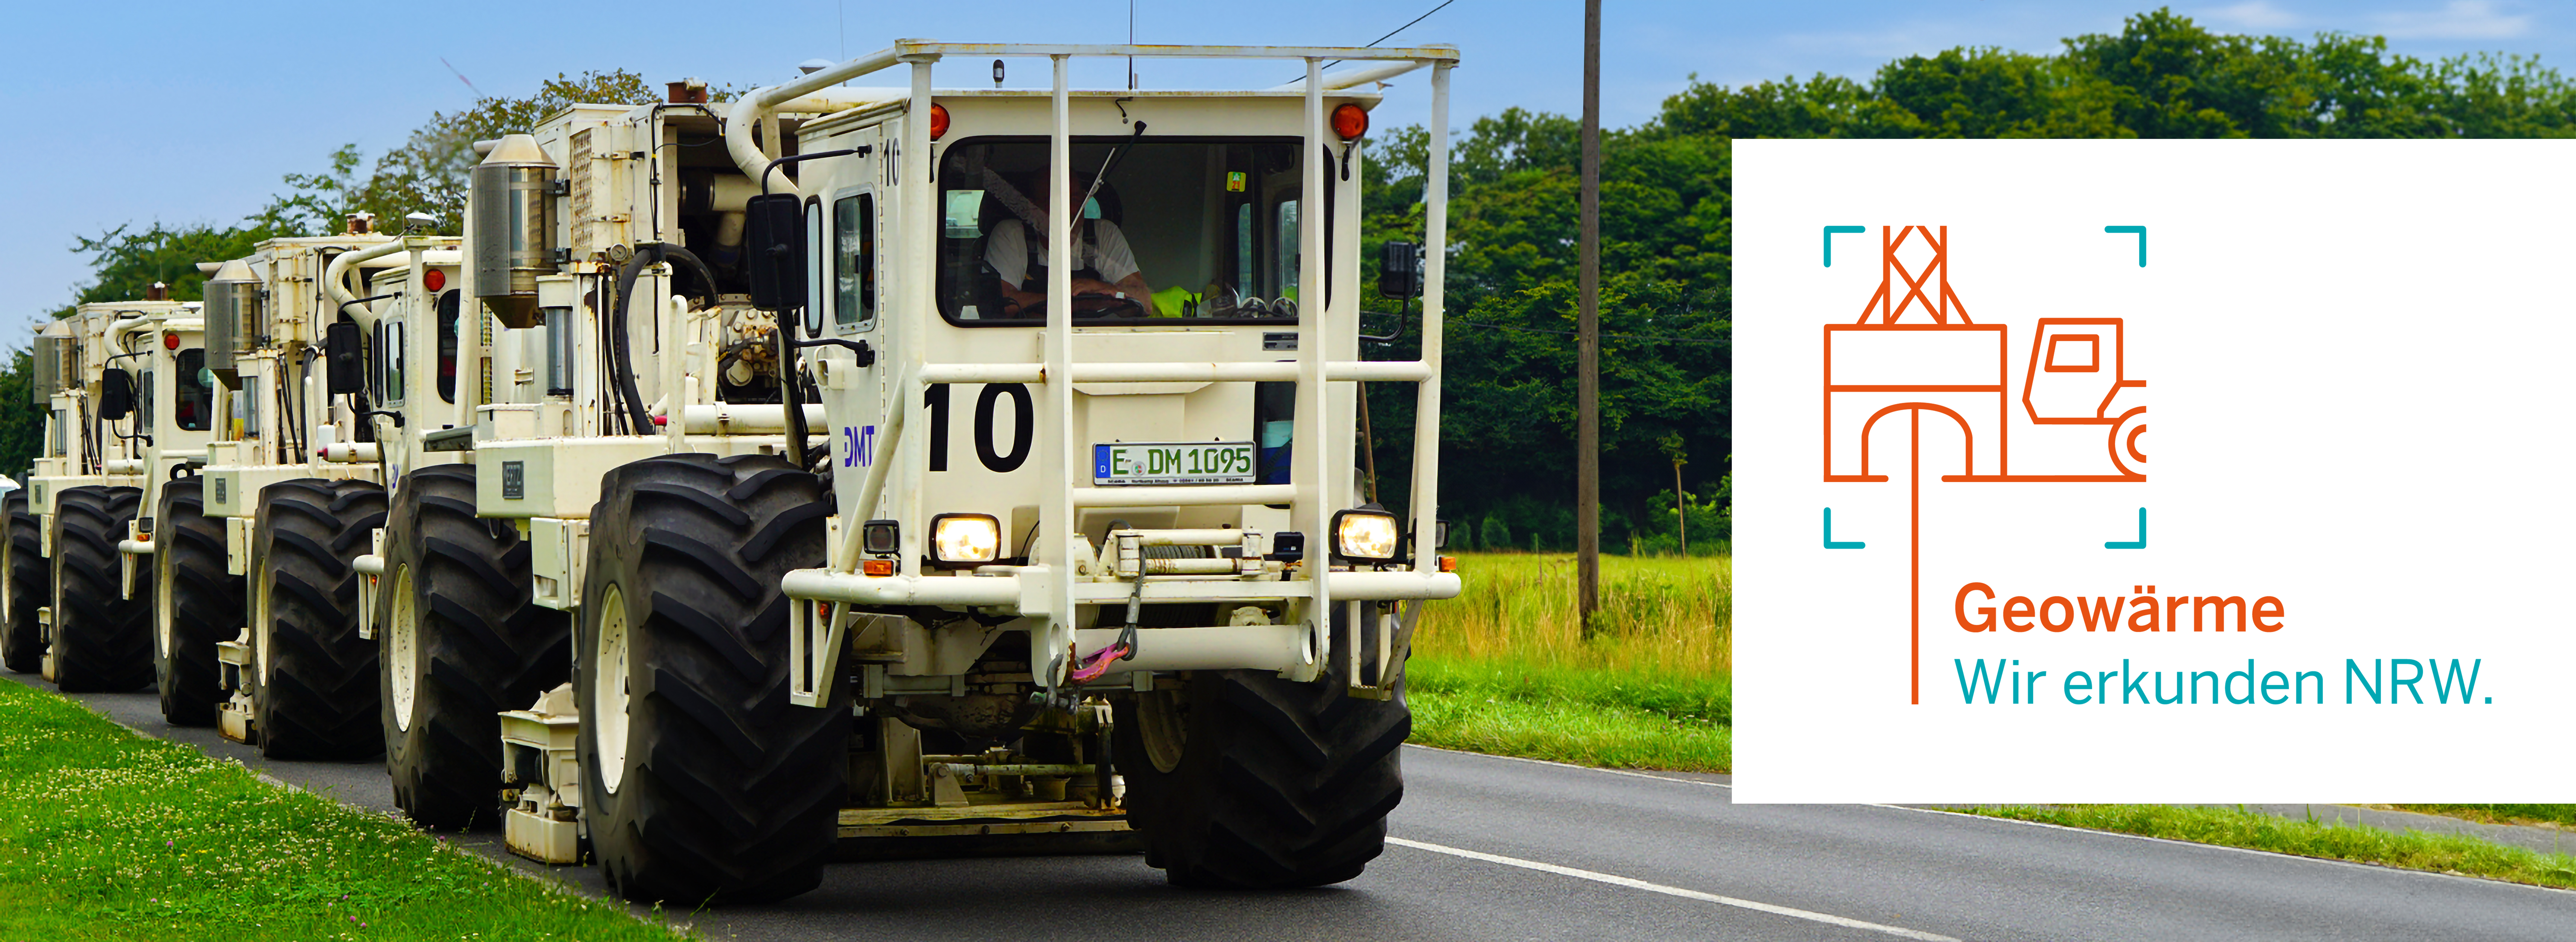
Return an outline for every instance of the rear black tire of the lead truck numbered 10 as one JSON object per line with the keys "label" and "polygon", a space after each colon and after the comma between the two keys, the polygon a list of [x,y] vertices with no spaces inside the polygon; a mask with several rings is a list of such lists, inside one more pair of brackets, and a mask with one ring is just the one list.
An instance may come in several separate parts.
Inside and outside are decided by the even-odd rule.
{"label": "rear black tire of the lead truck numbered 10", "polygon": [[415,824],[500,821],[500,710],[572,679],[572,618],[528,600],[528,543],[474,515],[474,466],[407,474],[376,582],[384,767]]}

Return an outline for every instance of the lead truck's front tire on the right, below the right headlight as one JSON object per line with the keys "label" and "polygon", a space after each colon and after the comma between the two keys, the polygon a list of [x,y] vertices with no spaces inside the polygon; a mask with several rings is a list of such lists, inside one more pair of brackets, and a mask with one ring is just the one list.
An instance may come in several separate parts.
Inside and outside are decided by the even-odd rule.
{"label": "lead truck's front tire on the right, below the right headlight", "polygon": [[1172,885],[1270,891],[1358,878],[1386,849],[1404,682],[1391,700],[1352,697],[1340,649],[1332,664],[1316,682],[1193,672],[1182,690],[1115,700],[1113,764],[1146,865]]}

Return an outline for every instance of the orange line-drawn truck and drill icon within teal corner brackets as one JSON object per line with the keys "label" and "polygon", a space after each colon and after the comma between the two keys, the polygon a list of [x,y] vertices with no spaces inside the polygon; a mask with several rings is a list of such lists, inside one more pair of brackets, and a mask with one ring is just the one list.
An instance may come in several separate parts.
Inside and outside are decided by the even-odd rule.
{"label": "orange line-drawn truck and drill icon within teal corner brackets", "polygon": [[[2112,232],[2136,226],[2112,226]],[[1834,265],[1834,234],[1862,226],[1826,226],[1824,265]],[[2138,232],[2146,265],[2143,239]],[[1963,435],[1963,466],[1942,481],[1965,484],[2138,484],[2146,481],[2143,378],[2128,378],[2125,319],[2043,317],[2030,337],[2022,389],[2012,389],[2012,329],[1978,324],[1950,286],[1950,226],[1880,226],[1878,293],[1852,324],[1824,327],[1824,481],[1886,484],[1888,456],[1870,453],[1880,420],[1909,430],[1906,486],[1914,589],[1911,703],[1922,703],[1922,458],[1924,422],[1932,435]],[[1911,247],[1911,250],[1909,250]],[[1909,265],[1906,257],[1914,257]],[[1922,322],[1904,322],[1919,311]],[[2020,409],[2014,409],[2020,402]],[[2014,450],[2014,443],[2025,445]],[[2022,456],[2014,466],[2014,456]],[[2087,458],[2089,456],[2089,458]],[[1834,510],[1824,510],[1826,548],[1865,548],[1834,540]],[[2146,510],[2138,540],[2105,548],[2146,548]]]}

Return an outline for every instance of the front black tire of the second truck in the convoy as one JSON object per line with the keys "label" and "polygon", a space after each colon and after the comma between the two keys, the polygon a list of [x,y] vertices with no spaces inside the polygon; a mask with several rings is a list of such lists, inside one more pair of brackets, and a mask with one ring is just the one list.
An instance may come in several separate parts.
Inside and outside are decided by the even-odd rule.
{"label": "front black tire of the second truck in the convoy", "polygon": [[374,481],[299,479],[260,489],[250,553],[252,710],[270,759],[368,759],[376,736],[376,643],[358,638],[358,571],[384,525]]}

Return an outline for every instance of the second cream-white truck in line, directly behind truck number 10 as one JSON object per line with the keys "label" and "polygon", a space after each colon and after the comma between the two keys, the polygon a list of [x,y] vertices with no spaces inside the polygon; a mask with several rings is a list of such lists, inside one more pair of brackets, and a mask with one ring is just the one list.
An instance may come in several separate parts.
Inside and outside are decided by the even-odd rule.
{"label": "second cream-white truck in line, directly behind truck number 10", "polygon": [[[415,443],[474,394],[456,371],[474,329],[448,288],[456,239],[368,229],[358,214],[345,234],[201,265],[222,422],[201,474],[162,489],[160,538],[126,546],[157,587],[162,716],[281,759],[384,749],[353,564],[384,525],[389,468],[461,458]],[[368,335],[386,317],[428,329]]]}

